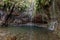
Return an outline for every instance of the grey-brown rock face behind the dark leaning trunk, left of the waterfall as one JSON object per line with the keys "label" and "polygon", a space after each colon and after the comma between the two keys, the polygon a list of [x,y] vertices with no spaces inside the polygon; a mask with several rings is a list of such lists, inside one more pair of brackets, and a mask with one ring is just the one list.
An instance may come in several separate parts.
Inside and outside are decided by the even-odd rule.
{"label": "grey-brown rock face behind the dark leaning trunk, left of the waterfall", "polygon": [[[4,13],[4,11],[0,10],[0,25],[4,23],[5,17],[7,13]],[[30,21],[30,17],[24,13],[16,13],[13,12],[11,18],[8,19],[8,24],[10,23],[17,23],[17,24],[24,24]]]}

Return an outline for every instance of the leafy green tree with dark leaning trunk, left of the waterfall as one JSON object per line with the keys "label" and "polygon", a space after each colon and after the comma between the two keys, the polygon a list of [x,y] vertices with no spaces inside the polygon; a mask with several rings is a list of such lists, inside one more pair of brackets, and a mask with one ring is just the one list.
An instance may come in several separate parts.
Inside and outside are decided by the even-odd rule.
{"label": "leafy green tree with dark leaning trunk, left of the waterfall", "polygon": [[8,25],[8,21],[9,19],[13,18],[14,19],[14,15],[12,14],[13,11],[18,11],[18,12],[24,12],[26,10],[26,8],[28,7],[26,4],[26,1],[24,0],[2,0],[1,2],[3,2],[4,5],[2,5],[0,8],[3,11],[8,12],[8,14],[5,17],[5,22],[2,24],[7,26]]}

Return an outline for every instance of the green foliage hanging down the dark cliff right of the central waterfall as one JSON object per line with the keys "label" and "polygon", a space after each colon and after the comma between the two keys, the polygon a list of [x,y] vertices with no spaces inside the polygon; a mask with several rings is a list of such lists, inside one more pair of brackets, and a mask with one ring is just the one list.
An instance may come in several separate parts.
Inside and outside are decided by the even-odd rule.
{"label": "green foliage hanging down the dark cliff right of the central waterfall", "polygon": [[40,13],[42,16],[45,14],[47,15],[47,18],[50,20],[51,15],[49,8],[52,6],[52,2],[52,0],[36,0],[36,13]]}

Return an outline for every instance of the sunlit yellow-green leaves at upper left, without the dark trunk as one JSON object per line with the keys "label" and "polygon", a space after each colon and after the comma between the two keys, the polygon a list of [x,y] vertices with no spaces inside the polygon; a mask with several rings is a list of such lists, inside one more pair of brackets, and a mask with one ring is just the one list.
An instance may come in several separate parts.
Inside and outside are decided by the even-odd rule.
{"label": "sunlit yellow-green leaves at upper left, without the dark trunk", "polygon": [[25,9],[28,7],[26,2],[23,0],[2,0],[1,1],[3,5],[0,5],[0,8],[2,8],[5,11],[10,11],[11,7],[15,5],[15,10],[17,9],[18,11],[25,11]]}

